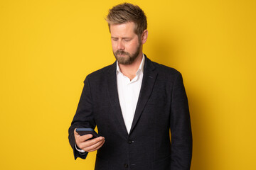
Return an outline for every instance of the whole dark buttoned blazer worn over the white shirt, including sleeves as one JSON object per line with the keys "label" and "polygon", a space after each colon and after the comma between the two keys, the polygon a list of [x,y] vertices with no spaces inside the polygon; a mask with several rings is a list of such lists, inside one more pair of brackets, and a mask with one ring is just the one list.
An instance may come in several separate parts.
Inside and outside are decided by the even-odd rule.
{"label": "whole dark buttoned blazer worn over the white shirt, including sleeves", "polygon": [[[116,62],[89,74],[69,128],[75,159],[75,128],[95,128],[105,137],[96,170],[190,169],[191,122],[181,74],[147,57],[137,108],[128,134],[117,94]],[[169,130],[171,129],[171,142]]]}

